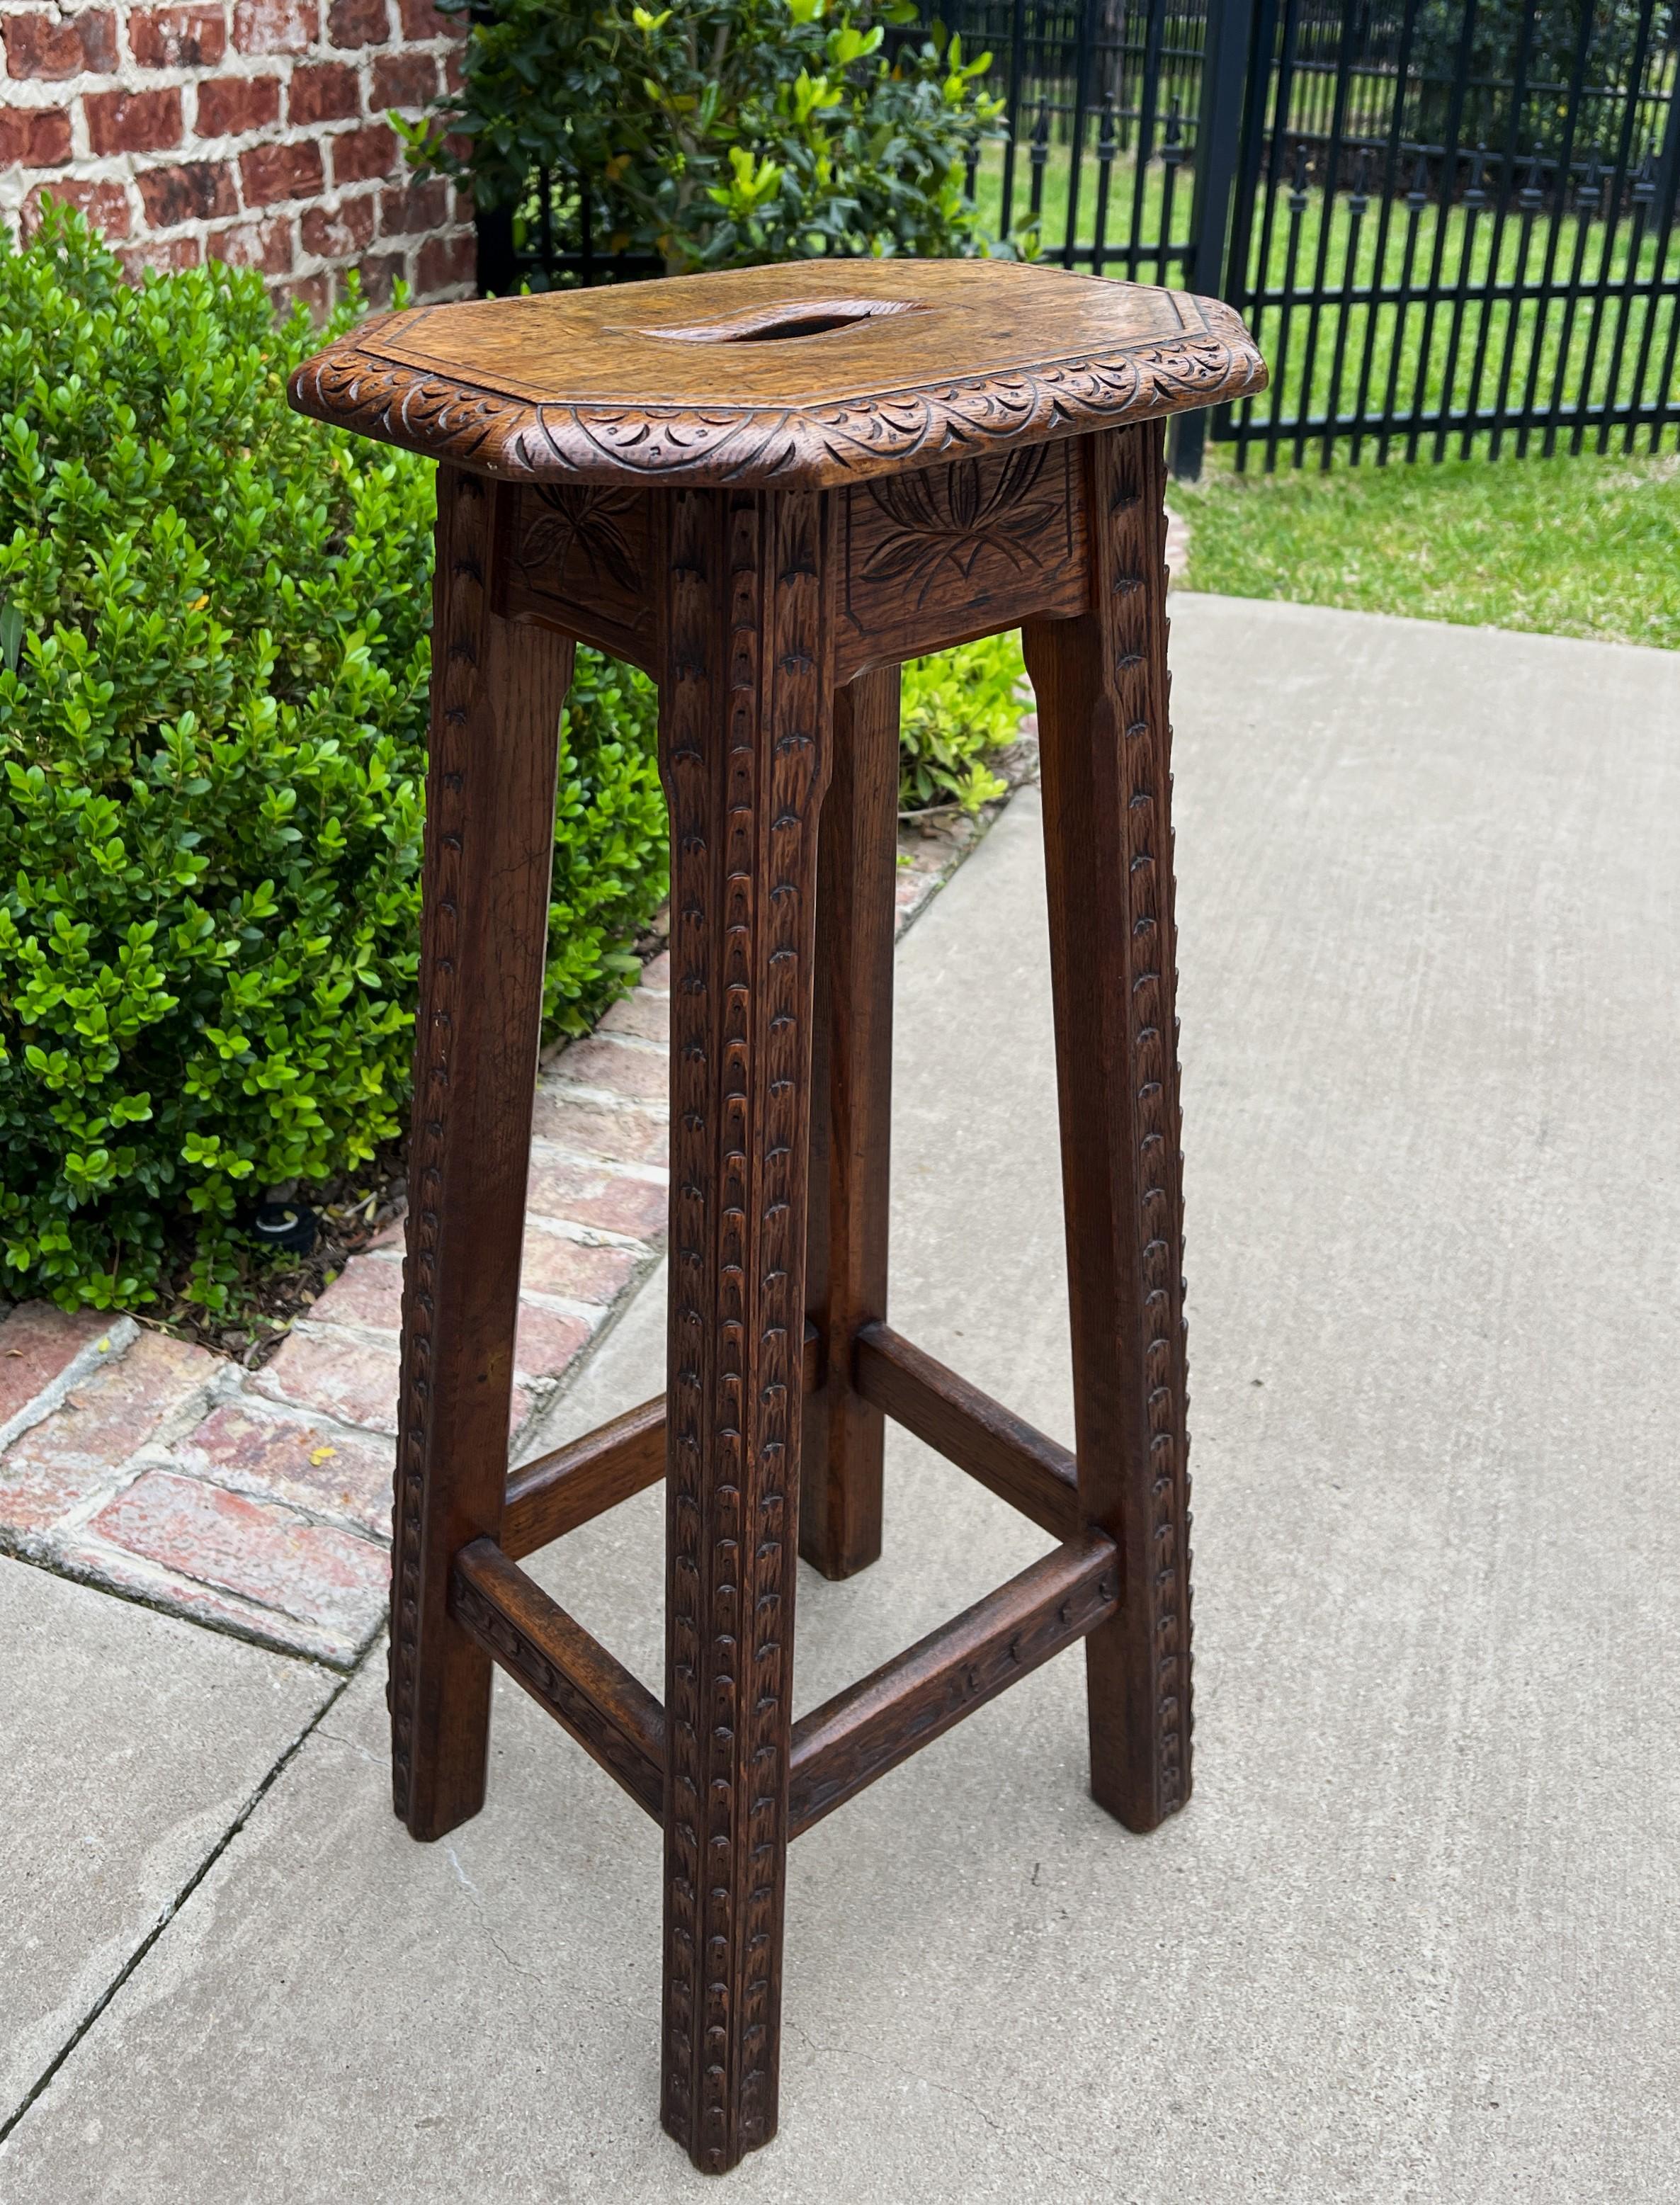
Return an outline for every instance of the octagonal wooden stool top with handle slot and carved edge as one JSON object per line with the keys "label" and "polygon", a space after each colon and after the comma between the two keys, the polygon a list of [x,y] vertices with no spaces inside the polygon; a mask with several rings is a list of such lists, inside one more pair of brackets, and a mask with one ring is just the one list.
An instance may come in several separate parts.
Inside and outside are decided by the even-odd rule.
{"label": "octagonal wooden stool top with handle slot and carved edge", "polygon": [[379,315],[300,412],[478,474],[818,487],[1266,384],[1217,300],[1014,260],[800,260]]}

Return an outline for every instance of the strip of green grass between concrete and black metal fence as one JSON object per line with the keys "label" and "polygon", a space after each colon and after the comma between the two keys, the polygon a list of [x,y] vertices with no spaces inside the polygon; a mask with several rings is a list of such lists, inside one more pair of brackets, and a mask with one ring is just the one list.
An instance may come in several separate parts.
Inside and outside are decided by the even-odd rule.
{"label": "strip of green grass between concrete and black metal fence", "polygon": [[1471,459],[1175,483],[1188,589],[1680,650],[1680,456]]}

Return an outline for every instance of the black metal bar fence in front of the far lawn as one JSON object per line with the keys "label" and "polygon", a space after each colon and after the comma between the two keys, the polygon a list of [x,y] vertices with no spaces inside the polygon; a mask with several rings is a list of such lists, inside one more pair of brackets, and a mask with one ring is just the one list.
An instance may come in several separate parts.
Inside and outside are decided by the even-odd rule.
{"label": "black metal bar fence in front of the far lawn", "polygon": [[[933,9],[930,9],[933,13]],[[1272,366],[1184,423],[1239,467],[1656,450],[1680,426],[1667,0],[946,0],[992,53],[968,187],[1065,267],[1228,298]],[[481,287],[655,273],[534,179]]]}

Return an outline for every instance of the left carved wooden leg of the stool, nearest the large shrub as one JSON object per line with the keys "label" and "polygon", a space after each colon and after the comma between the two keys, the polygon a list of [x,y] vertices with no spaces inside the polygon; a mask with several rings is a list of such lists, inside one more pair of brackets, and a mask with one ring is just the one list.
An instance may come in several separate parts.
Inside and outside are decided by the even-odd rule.
{"label": "left carved wooden leg of the stool, nearest the large shrub", "polygon": [[489,611],[494,485],[439,470],[426,911],[397,1409],[390,1764],[443,1837],[485,1797],[489,1656],[450,1563],[507,1486],[520,1233],[571,644]]}

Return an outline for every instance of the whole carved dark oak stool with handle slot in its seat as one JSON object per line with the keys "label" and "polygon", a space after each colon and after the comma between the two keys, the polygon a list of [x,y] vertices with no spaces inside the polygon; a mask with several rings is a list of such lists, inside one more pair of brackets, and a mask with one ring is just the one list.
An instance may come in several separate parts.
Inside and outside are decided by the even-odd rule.
{"label": "whole carved dark oak stool with handle slot in its seat", "polygon": [[[390,1720],[397,1813],[485,1797],[500,1663],[666,1835],[664,2123],[776,2130],[789,1837],[1060,1647],[1091,1790],[1191,1788],[1162,419],[1237,318],[1008,262],[829,262],[366,322],[304,412],[443,461]],[[1038,692],[1076,1451],[886,1325],[897,666],[1021,624]],[[509,1477],[556,730],[573,642],[659,681],[661,1400]],[[814,1186],[807,1217],[807,1186]],[[882,1418],[1058,1546],[789,1720],[796,1541],[880,1552]],[[518,1568],[666,1480],[664,1707]]]}

